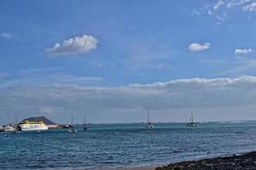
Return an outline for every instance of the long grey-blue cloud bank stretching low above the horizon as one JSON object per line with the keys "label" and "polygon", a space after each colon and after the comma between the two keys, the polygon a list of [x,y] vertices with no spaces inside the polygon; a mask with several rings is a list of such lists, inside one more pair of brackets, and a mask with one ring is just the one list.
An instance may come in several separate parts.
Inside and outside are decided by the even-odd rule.
{"label": "long grey-blue cloud bank stretching low above the horizon", "polygon": [[42,108],[47,108],[50,116],[61,118],[84,113],[110,116],[114,111],[129,115],[148,109],[157,112],[190,108],[191,111],[199,107],[247,106],[255,105],[255,87],[256,77],[243,76],[178,79],[113,88],[65,84],[0,88],[0,115],[49,114]]}

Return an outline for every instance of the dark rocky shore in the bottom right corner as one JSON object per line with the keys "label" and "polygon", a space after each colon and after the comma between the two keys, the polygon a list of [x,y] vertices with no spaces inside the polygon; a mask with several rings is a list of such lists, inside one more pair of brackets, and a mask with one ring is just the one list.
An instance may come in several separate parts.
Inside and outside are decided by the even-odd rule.
{"label": "dark rocky shore in the bottom right corner", "polygon": [[225,156],[200,161],[171,163],[155,170],[256,170],[256,151],[239,155]]}

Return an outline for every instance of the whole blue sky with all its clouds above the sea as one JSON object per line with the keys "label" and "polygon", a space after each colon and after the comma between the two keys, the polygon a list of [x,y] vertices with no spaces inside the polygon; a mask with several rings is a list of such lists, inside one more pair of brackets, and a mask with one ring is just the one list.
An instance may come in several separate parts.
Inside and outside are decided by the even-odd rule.
{"label": "whole blue sky with all its clouds above the sea", "polygon": [[0,123],[256,120],[255,0],[0,2]]}

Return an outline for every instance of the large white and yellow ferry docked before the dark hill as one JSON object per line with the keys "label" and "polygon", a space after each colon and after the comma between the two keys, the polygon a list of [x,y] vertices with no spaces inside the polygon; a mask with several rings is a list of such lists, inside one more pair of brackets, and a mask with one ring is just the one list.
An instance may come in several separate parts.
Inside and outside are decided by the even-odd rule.
{"label": "large white and yellow ferry docked before the dark hill", "polygon": [[21,131],[41,131],[41,130],[48,130],[44,122],[30,122],[30,121],[23,121],[18,124]]}

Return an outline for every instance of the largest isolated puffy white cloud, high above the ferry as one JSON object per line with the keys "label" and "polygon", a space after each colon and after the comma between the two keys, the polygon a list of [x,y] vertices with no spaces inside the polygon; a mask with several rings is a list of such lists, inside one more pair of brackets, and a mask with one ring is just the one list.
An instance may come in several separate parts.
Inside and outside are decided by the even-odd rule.
{"label": "largest isolated puffy white cloud, high above the ferry", "polygon": [[54,55],[85,54],[96,49],[97,43],[98,40],[95,37],[83,35],[70,38],[62,43],[57,42],[53,48],[48,48],[46,51]]}

